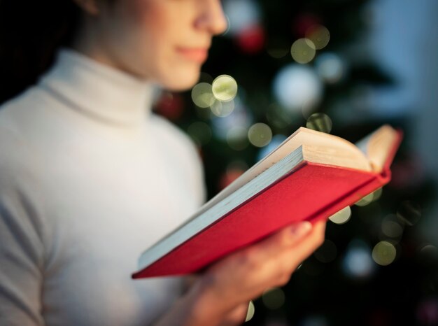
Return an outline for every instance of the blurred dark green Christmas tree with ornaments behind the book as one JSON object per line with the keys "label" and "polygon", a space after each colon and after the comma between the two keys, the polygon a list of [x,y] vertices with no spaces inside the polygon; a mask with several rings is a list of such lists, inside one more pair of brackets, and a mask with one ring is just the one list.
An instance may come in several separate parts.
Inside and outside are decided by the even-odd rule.
{"label": "blurred dark green Christmas tree with ornaments behind the book", "polygon": [[[229,30],[201,80],[156,105],[198,144],[209,197],[301,126],[354,142],[390,123],[409,143],[409,117],[369,112],[369,90],[394,81],[358,42],[368,2],[224,1]],[[437,250],[413,227],[432,193],[402,146],[392,183],[329,222],[324,245],[255,300],[248,325],[438,325]]]}

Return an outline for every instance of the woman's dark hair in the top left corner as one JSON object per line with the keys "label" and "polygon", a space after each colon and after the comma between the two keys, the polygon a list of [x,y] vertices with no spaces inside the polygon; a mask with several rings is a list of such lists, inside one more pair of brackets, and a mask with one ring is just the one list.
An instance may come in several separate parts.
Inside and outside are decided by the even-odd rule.
{"label": "woman's dark hair in the top left corner", "polygon": [[0,104],[34,84],[69,45],[80,19],[73,0],[0,0]]}

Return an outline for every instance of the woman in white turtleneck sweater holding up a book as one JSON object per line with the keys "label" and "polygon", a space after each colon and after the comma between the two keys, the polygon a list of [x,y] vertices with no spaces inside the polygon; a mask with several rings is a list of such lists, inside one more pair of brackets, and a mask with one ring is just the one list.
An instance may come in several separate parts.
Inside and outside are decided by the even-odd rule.
{"label": "woman in white turtleneck sweater holding up a book", "polygon": [[322,243],[324,222],[225,257],[185,292],[183,278],[130,279],[141,250],[204,200],[194,146],[150,101],[153,85],[197,82],[226,28],[220,1],[74,1],[73,37],[0,110],[0,324],[242,323]]}

